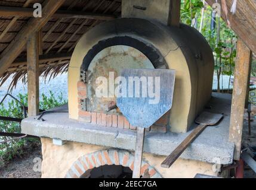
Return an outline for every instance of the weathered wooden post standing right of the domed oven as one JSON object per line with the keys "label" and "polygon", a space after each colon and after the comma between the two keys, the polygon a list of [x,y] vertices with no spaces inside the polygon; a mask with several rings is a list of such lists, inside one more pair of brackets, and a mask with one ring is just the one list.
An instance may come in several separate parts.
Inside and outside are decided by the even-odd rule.
{"label": "weathered wooden post standing right of the domed oven", "polygon": [[242,143],[243,113],[245,109],[246,91],[248,87],[251,50],[238,39],[236,66],[232,95],[232,107],[229,126],[229,141],[235,143],[234,159],[240,159]]}

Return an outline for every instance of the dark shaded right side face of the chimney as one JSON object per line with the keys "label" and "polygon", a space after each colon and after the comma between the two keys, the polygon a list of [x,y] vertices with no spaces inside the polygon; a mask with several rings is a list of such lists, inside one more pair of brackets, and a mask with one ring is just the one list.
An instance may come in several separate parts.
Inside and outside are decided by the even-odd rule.
{"label": "dark shaded right side face of the chimney", "polygon": [[181,0],[171,0],[169,10],[169,26],[180,27],[180,5]]}

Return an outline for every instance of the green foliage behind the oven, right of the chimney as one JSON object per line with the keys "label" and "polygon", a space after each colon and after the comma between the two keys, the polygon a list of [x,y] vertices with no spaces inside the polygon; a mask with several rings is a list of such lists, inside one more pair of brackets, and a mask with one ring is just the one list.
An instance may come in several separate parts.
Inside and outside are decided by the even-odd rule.
{"label": "green foliage behind the oven, right of the chimney", "polygon": [[[205,39],[214,52],[214,68],[219,83],[221,74],[233,75],[237,36],[233,30],[227,27],[226,23],[221,18],[216,19],[216,28],[211,30],[212,8],[205,4],[203,17],[202,8],[203,2],[201,0],[182,0],[181,22],[191,26],[192,20],[194,19],[197,23],[194,27],[198,30],[202,27],[201,33],[205,36]],[[201,23],[203,23],[202,26],[200,26]]]}

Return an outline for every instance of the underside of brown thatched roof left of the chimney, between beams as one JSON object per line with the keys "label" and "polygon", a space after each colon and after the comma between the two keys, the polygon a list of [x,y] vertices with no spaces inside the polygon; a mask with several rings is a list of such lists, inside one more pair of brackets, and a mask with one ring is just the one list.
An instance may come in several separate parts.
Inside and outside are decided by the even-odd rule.
{"label": "underside of brown thatched roof left of the chimney, between beams", "polygon": [[[36,2],[43,3],[44,1],[0,0],[0,7],[32,8]],[[121,14],[121,0],[66,0],[61,8],[58,9],[58,11],[62,10],[70,12],[77,11],[79,14],[86,12],[95,15],[106,14],[107,17],[110,15],[111,17],[119,17]],[[100,17],[96,17],[100,18],[100,20],[70,17],[72,16],[61,18],[60,15],[55,15],[42,28],[43,42],[39,66],[41,68],[41,74],[45,77],[48,74],[54,77],[60,72],[66,72],[71,54],[80,37],[91,27],[104,21]],[[106,20],[110,19],[107,17]],[[29,19],[30,17],[0,16],[0,54],[12,42]],[[10,76],[13,76],[11,86],[15,85],[17,80],[20,79],[26,81],[26,72],[25,47],[16,61],[0,76],[0,85]]]}

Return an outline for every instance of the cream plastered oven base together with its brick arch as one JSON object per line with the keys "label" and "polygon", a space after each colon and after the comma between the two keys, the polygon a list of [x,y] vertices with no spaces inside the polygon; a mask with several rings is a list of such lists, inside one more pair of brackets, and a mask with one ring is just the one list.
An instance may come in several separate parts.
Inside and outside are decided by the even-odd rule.
{"label": "cream plastered oven base together with its brick arch", "polygon": [[[41,138],[42,178],[81,178],[95,167],[122,165],[133,169],[132,152],[99,145],[67,142],[54,145],[51,138]],[[142,175],[148,169],[151,178],[194,178],[197,173],[217,176],[213,164],[196,160],[178,159],[169,169],[161,167],[165,156],[143,153]]]}

